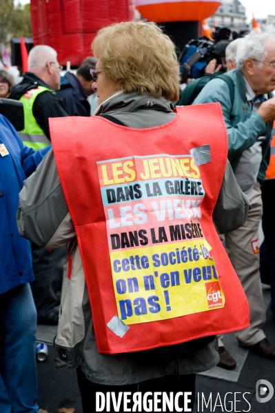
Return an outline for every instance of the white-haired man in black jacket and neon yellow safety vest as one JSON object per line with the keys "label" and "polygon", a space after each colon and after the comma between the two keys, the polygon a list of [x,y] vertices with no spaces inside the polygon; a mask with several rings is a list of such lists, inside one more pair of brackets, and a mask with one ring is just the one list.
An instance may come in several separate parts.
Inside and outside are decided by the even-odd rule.
{"label": "white-haired man in black jacket and neon yellow safety vest", "polygon": [[[56,93],[62,69],[57,61],[56,50],[50,46],[35,46],[30,50],[28,67],[29,71],[23,75],[21,83],[14,86],[10,98],[23,103],[25,128],[19,135],[25,145],[37,150],[50,145],[48,119],[67,117],[68,112]],[[32,244],[32,268],[35,275],[32,293],[39,323],[57,325],[57,292],[64,257],[63,248],[45,251]]]}

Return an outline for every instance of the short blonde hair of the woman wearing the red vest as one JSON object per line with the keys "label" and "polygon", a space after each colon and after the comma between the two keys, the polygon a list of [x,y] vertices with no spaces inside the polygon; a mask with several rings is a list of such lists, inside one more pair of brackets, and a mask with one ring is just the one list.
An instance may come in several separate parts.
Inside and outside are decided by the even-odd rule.
{"label": "short blonde hair of the woman wearing the red vest", "polygon": [[179,100],[179,63],[175,46],[159,26],[125,21],[105,27],[92,42],[95,57],[124,93]]}

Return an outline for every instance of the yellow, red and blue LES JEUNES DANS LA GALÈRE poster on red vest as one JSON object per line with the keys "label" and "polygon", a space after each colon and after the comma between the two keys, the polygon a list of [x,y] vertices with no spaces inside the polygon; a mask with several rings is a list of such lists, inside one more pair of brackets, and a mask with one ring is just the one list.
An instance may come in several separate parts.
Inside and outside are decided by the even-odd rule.
{"label": "yellow, red and blue LES JEUNES DANS LA GAL\u00c8RE poster on red vest", "polygon": [[112,159],[97,168],[120,319],[130,325],[223,307],[192,156]]}

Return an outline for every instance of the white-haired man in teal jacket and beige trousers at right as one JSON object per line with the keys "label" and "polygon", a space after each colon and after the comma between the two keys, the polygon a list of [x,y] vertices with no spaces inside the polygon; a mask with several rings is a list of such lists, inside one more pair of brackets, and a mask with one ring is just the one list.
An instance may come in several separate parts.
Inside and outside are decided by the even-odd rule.
{"label": "white-haired man in teal jacket and beige trousers at right", "polygon": [[[232,57],[227,55],[227,59]],[[243,285],[250,310],[250,326],[236,333],[239,345],[275,360],[275,346],[262,330],[265,323],[260,285],[258,225],[261,221],[261,185],[269,161],[275,119],[275,32],[251,32],[237,45],[236,69],[226,74],[234,82],[234,101],[227,84],[214,79],[198,94],[194,104],[220,102],[228,134],[228,159],[236,181],[247,194],[252,209],[243,227],[224,235],[224,245]],[[236,362],[219,340],[220,365],[232,369]]]}

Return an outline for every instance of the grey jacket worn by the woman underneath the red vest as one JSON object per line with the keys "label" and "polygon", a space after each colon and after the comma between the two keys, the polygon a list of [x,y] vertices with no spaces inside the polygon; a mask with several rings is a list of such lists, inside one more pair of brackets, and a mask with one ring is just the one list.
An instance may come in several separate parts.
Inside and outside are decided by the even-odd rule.
{"label": "grey jacket worn by the woman underneath the red vest", "polygon": [[[148,99],[134,93],[116,92],[103,102],[96,114],[108,113],[132,128],[162,125],[176,116],[172,104],[166,99],[154,99],[156,105],[147,107],[145,102]],[[72,256],[70,280],[67,277],[67,259],[64,264],[59,327],[54,342],[57,367],[80,366],[90,381],[108,385],[139,383],[174,374],[174,362],[146,365],[132,361],[127,354],[98,353],[81,256],[52,151],[25,182],[19,197],[17,223],[21,235],[45,249],[68,244],[68,252]],[[218,230],[224,232],[243,225],[248,209],[249,202],[227,163],[214,211]],[[179,373],[203,372],[214,367],[218,363],[216,350],[214,341],[199,352],[181,357]]]}

